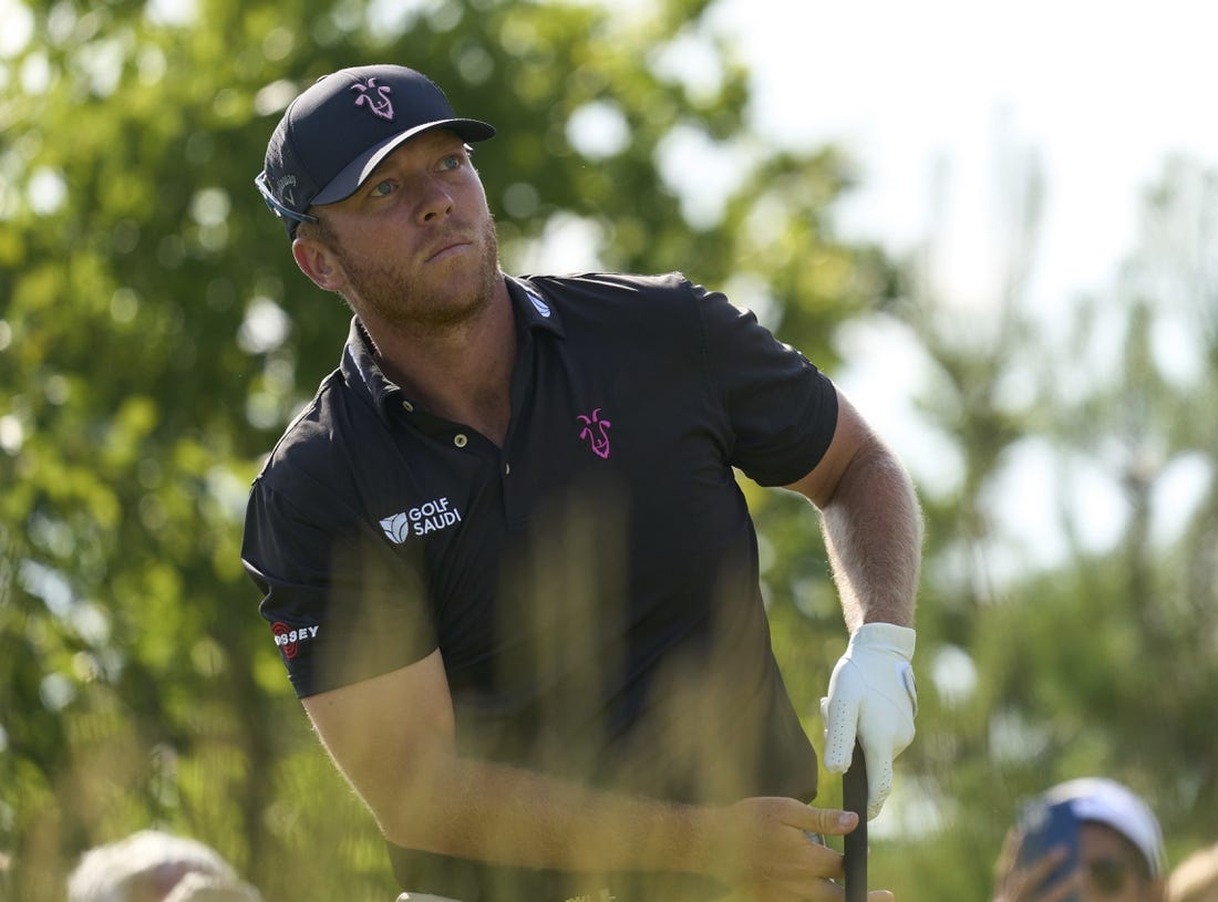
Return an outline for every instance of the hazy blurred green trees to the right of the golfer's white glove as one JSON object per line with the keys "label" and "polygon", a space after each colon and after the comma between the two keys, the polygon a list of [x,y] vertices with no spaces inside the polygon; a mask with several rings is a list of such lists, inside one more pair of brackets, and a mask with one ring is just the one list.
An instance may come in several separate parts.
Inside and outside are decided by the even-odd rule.
{"label": "hazy blurred green trees to the right of the golfer's white glove", "polygon": [[[923,497],[920,733],[876,865],[904,898],[988,897],[1019,800],[1084,774],[1142,794],[1170,859],[1213,839],[1216,177],[1169,163],[1111,288],[1045,319],[1027,292],[1040,181],[1026,159],[1007,183],[1017,265],[988,321],[938,315],[918,276],[895,308],[932,364],[921,402],[957,437],[960,474]],[[1029,452],[1039,482],[1018,471],[1012,487]],[[1018,494],[1049,499],[1047,561],[1004,534]]]}

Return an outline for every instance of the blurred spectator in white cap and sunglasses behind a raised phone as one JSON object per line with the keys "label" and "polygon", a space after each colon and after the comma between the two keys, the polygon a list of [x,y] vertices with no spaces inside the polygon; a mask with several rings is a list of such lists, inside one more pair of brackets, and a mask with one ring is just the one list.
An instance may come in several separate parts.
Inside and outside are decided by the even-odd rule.
{"label": "blurred spectator in white cap and sunglasses behind a raised phone", "polygon": [[1065,803],[1077,822],[1078,865],[1056,873],[1066,845],[1030,861],[1019,855],[1022,828],[1011,828],[995,869],[995,902],[1164,902],[1163,834],[1146,803],[1114,780],[1086,777],[1041,797]]}

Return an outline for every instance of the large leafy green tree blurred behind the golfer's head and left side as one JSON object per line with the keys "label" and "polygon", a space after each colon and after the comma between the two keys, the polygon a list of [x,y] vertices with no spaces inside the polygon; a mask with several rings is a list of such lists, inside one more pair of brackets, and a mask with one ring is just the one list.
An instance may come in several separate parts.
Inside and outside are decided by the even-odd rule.
{"label": "large leafy green tree blurred behind the golfer's head and left side", "polygon": [[[37,35],[0,61],[0,847],[21,898],[61,897],[80,850],[150,823],[216,845],[268,898],[392,893],[238,560],[250,480],[346,332],[252,187],[314,78],[406,62],[497,124],[477,164],[509,269],[590,236],[607,268],[726,286],[827,365],[833,326],[889,293],[882,256],[832,230],[848,161],[748,133],[747,73],[705,6],[16,7]],[[682,152],[731,166],[720,203],[682,185]],[[840,616],[775,584],[811,711]],[[832,657],[794,638],[810,620]]]}

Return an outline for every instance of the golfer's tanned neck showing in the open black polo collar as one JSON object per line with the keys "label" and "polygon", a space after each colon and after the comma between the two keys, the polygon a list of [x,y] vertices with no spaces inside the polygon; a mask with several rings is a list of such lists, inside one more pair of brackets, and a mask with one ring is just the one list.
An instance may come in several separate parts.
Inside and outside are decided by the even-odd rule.
{"label": "golfer's tanned neck showing in the open black polo collar", "polygon": [[390,379],[431,413],[503,444],[512,415],[516,329],[501,280],[477,315],[426,336],[364,323]]}

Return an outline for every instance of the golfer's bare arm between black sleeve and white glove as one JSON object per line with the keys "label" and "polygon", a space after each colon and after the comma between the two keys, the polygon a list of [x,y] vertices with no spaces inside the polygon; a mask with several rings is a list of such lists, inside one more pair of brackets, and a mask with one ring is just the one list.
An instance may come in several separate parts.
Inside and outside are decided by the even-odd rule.
{"label": "golfer's bare arm between black sleeve and white glove", "polygon": [[838,392],[833,442],[787,488],[820,508],[847,627],[914,624],[922,556],[922,514],[909,475]]}

